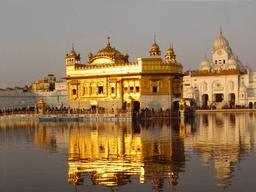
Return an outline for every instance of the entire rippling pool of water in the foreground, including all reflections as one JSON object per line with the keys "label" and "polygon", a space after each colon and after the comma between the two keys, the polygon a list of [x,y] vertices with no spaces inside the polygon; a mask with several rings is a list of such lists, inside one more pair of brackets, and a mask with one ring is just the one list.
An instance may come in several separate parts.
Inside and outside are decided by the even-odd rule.
{"label": "entire rippling pool of water in the foreground, including all reflections", "polygon": [[256,191],[256,112],[0,122],[0,191]]}

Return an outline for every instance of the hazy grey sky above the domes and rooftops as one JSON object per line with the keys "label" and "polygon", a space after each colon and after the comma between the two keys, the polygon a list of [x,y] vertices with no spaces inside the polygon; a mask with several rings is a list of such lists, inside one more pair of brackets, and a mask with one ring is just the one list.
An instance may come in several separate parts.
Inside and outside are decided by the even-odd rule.
{"label": "hazy grey sky above the domes and rooftops", "polygon": [[256,71],[255,1],[210,0],[0,0],[0,88],[31,85],[54,74],[66,76],[65,54],[97,53],[111,46],[148,58],[156,43],[162,58],[173,44],[183,71],[199,68],[222,35],[243,65]]}

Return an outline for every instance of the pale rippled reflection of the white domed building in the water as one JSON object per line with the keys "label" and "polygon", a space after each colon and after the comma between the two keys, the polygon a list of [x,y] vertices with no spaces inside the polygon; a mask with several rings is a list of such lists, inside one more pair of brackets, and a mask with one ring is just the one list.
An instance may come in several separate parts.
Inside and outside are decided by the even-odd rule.
{"label": "pale rippled reflection of the white domed building in the water", "polygon": [[186,125],[185,148],[198,150],[204,165],[213,161],[215,178],[223,188],[230,185],[227,179],[240,153],[251,148],[249,123],[256,123],[256,113],[199,113],[194,132],[189,131],[192,124]]}

